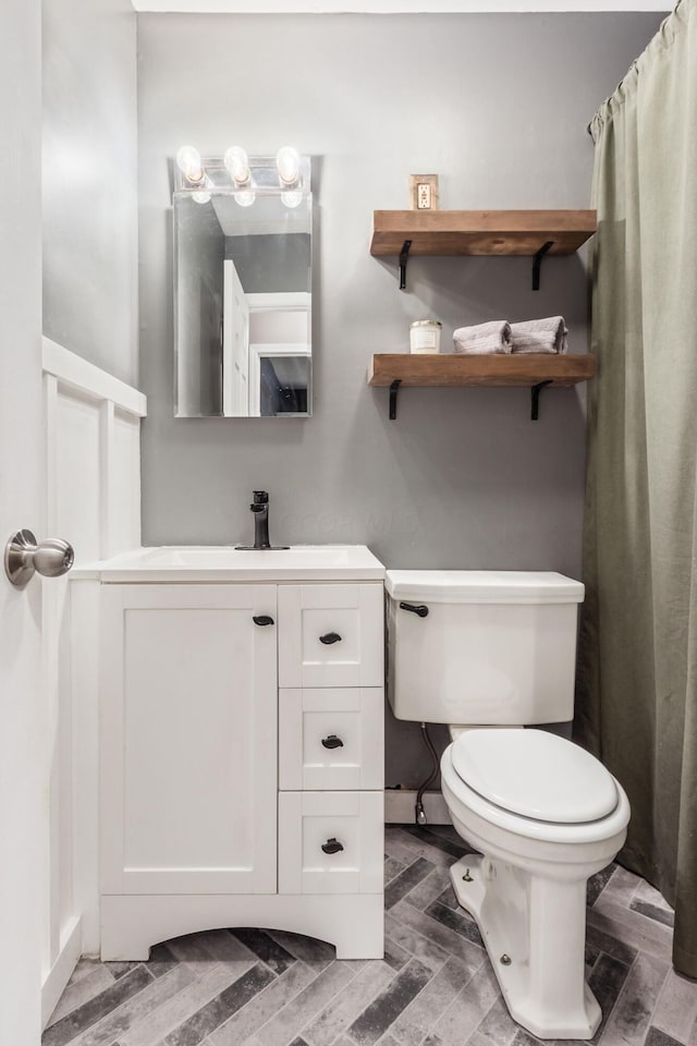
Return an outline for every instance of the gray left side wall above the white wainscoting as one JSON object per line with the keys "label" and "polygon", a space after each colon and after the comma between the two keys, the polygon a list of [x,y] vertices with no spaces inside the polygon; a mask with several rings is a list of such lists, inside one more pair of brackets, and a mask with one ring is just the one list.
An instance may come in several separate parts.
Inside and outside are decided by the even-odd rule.
{"label": "gray left side wall above the white wainscoting", "polygon": [[44,0],[44,333],[137,384],[136,15]]}

